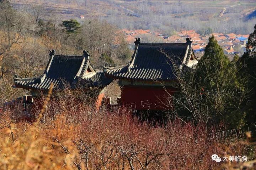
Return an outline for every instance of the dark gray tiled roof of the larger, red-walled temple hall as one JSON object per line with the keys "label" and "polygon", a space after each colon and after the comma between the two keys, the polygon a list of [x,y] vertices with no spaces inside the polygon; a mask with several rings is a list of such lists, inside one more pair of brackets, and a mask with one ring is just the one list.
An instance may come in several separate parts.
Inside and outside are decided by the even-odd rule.
{"label": "dark gray tiled roof of the larger, red-walled temple hall", "polygon": [[173,63],[180,68],[184,58],[190,58],[187,56],[187,51],[189,46],[186,43],[141,43],[135,47],[132,61],[127,66],[105,67],[104,72],[118,79],[173,80],[175,79]]}

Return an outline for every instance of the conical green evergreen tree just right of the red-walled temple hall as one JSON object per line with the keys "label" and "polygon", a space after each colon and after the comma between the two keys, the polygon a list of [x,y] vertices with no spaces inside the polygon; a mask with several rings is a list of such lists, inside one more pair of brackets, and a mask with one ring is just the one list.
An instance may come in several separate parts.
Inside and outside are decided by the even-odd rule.
{"label": "conical green evergreen tree just right of the red-walled temple hall", "polygon": [[213,121],[224,121],[230,128],[244,124],[244,113],[239,109],[239,90],[234,90],[240,89],[236,64],[224,55],[214,36],[209,38],[205,53],[198,61],[195,76],[196,88],[203,89],[201,107],[206,107]]}

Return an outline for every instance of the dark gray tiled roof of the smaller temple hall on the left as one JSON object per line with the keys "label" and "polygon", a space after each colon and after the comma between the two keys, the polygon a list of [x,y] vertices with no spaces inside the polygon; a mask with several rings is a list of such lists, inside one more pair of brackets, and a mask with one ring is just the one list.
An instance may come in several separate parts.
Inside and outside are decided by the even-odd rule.
{"label": "dark gray tiled roof of the smaller temple hall on the left", "polygon": [[[90,61],[86,60],[84,56],[54,55],[50,57],[44,74],[34,78],[14,78],[15,87],[47,90],[51,83],[53,83],[54,88],[63,89],[65,83],[68,83],[72,87],[79,78],[86,78],[85,73],[89,66],[96,72],[91,66]],[[103,78],[99,76],[102,75],[102,73],[103,71],[99,73],[96,72],[96,74],[91,77],[95,85],[97,81]]]}

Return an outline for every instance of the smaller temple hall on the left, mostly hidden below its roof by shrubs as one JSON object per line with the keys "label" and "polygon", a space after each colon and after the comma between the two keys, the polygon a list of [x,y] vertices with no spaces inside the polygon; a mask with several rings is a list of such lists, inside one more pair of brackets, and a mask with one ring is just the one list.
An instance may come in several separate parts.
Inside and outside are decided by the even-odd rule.
{"label": "smaller temple hall on the left, mostly hidden below its roof by shrubs", "polygon": [[86,87],[104,88],[113,79],[105,77],[103,70],[95,69],[87,51],[81,56],[55,55],[55,50],[49,53],[49,62],[44,73],[38,77],[14,77],[14,87],[31,90],[31,95],[23,96],[23,102],[31,103],[34,97],[39,97],[41,91],[47,92],[50,85],[54,89],[64,89],[67,85],[74,89],[78,83]]}

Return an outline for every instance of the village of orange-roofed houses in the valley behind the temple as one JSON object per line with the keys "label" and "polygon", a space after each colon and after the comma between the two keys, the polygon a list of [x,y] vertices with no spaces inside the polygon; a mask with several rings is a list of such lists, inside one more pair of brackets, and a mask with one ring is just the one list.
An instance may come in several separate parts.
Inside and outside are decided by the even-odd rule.
{"label": "village of orange-roofed houses in the valley behind the temple", "polygon": [[122,32],[126,36],[126,40],[129,44],[133,44],[136,37],[143,37],[145,42],[148,43],[182,43],[186,38],[191,38],[193,41],[192,49],[200,56],[199,53],[203,53],[208,43],[208,38],[214,36],[218,41],[218,44],[223,48],[226,55],[242,55],[246,49],[246,43],[249,38],[249,34],[223,34],[223,33],[209,33],[205,36],[201,36],[195,30],[183,30],[178,32],[177,35],[166,36],[164,32],[147,30],[128,30],[122,29]]}

